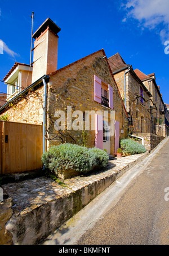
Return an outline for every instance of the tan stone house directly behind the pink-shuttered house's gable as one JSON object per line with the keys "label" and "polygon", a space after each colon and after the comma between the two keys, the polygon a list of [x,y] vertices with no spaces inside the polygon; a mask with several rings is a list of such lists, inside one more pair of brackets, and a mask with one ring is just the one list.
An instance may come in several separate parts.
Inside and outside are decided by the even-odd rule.
{"label": "tan stone house directly behind the pink-shuttered house's gable", "polygon": [[127,65],[119,53],[111,56],[108,61],[126,107],[130,132],[148,133],[152,94],[146,89],[132,66]]}

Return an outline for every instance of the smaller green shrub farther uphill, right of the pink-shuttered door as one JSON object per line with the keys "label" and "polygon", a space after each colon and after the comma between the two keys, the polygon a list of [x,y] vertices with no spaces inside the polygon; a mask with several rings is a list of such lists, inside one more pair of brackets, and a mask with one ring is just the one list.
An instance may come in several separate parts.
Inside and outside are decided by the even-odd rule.
{"label": "smaller green shrub farther uphill, right of the pink-shuttered door", "polygon": [[130,155],[141,154],[146,152],[144,145],[139,144],[132,139],[122,139],[120,144],[121,148],[123,149],[123,152],[128,153]]}

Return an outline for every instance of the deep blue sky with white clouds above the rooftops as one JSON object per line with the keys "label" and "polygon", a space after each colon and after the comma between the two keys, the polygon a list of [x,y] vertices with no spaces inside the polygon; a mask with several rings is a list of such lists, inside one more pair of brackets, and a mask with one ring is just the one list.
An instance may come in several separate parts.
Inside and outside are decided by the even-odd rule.
{"label": "deep blue sky with white clouds above the rooftops", "polygon": [[61,28],[57,69],[102,48],[108,58],[119,52],[133,69],[155,73],[169,104],[168,0],[0,0],[0,80],[15,61],[30,62],[32,12],[33,32],[47,17]]}

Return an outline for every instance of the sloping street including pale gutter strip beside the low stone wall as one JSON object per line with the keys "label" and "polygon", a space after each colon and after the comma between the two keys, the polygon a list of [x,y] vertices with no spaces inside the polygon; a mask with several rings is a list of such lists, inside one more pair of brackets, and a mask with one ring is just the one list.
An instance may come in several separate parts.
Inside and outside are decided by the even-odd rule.
{"label": "sloping street including pale gutter strip beside the low stone wall", "polygon": [[44,244],[169,244],[168,152],[167,139]]}

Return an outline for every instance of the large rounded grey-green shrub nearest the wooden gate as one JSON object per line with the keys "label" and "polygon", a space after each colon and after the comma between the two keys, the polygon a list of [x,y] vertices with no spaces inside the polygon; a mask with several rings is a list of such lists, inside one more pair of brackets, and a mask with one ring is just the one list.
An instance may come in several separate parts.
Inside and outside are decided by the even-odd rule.
{"label": "large rounded grey-green shrub nearest the wooden gate", "polygon": [[108,160],[108,154],[99,148],[86,148],[70,143],[52,146],[42,155],[43,166],[56,176],[62,170],[86,174],[96,167],[105,167]]}

